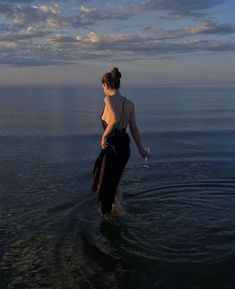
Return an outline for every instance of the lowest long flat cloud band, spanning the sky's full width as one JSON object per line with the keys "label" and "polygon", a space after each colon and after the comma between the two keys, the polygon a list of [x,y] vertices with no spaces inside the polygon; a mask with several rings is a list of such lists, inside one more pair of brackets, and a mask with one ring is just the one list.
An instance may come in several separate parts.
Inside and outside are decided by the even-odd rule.
{"label": "lowest long flat cloud band, spanning the sky's full width", "polygon": [[[39,36],[37,33],[29,29],[18,35],[5,34],[5,40],[0,42],[0,63],[36,66],[73,64],[89,59],[132,61],[175,57],[183,53],[235,51],[235,40],[188,40],[181,37],[158,39],[146,33],[129,35],[89,32],[75,37],[48,36],[47,43],[28,42],[28,39]],[[13,41],[14,38],[18,40]]]}

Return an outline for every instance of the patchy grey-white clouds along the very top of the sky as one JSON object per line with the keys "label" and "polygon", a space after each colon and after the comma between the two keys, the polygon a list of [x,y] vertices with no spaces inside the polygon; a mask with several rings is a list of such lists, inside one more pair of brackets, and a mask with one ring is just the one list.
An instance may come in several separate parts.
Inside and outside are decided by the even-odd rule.
{"label": "patchy grey-white clouds along the very top of the sky", "polygon": [[[92,7],[95,5],[95,1],[79,1],[79,5],[75,7],[72,1],[48,2],[41,1],[38,5],[38,1],[34,0],[3,0],[0,2],[0,13],[18,25],[36,25],[38,23],[42,25],[45,23],[55,29],[69,26],[81,28],[95,25],[99,21],[128,20],[147,12],[165,11],[168,17],[174,18],[202,16],[206,9],[220,4],[222,0],[146,0],[145,2],[133,1],[134,4],[123,6],[118,6],[118,3],[110,1],[110,7],[115,7],[115,9],[107,9],[105,6]],[[89,7],[82,4],[84,2],[90,2]],[[72,4],[70,7],[69,3]]]}

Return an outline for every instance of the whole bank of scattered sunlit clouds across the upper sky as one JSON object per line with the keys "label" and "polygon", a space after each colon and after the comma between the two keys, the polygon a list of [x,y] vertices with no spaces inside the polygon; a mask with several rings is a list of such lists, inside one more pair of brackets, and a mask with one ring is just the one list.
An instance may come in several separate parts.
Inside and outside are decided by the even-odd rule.
{"label": "whole bank of scattered sunlit clouds across the upper sky", "polygon": [[[0,2],[0,64],[37,66],[84,59],[120,61],[234,52],[234,24],[207,17],[222,2],[149,0],[120,6],[109,1],[105,6],[98,0],[79,1],[79,5],[70,0],[4,0]],[[141,22],[141,17],[152,17],[154,23],[162,13],[165,18],[178,19],[178,27],[170,26],[171,20],[167,29],[157,24],[146,28]],[[186,26],[183,19],[195,24]],[[115,32],[115,23],[131,21],[138,22],[136,29]]]}

